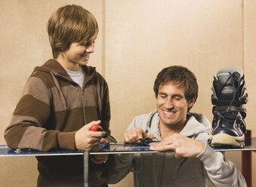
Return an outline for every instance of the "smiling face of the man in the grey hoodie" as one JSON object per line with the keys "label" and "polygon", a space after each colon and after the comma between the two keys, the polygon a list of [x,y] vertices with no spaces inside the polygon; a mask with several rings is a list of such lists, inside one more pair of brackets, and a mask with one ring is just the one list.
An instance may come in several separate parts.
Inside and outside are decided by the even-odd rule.
{"label": "smiling face of the man in the grey hoodie", "polygon": [[185,98],[185,88],[178,87],[171,82],[160,84],[156,98],[156,107],[159,113],[160,125],[183,128],[186,124],[187,109],[189,103]]}

